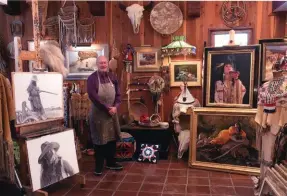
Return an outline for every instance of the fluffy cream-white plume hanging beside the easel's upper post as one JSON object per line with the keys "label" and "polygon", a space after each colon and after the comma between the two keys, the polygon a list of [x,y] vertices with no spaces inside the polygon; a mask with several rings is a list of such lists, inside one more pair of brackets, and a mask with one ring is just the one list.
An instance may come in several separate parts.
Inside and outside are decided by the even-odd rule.
{"label": "fluffy cream-white plume hanging beside the easel's upper post", "polygon": [[65,57],[56,41],[49,41],[41,45],[40,57],[43,64],[49,66],[53,71],[60,72],[63,77],[67,77],[68,70],[64,65]]}

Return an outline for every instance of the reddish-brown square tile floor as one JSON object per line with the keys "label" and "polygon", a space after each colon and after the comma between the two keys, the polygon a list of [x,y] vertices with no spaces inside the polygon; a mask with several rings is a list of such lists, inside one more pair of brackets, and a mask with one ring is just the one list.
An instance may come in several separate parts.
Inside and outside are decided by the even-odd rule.
{"label": "reddish-brown square tile floor", "polygon": [[81,189],[74,178],[47,189],[49,196],[253,196],[250,177],[223,172],[190,169],[187,161],[160,160],[158,164],[124,162],[124,170],[93,175],[92,157],[83,157]]}

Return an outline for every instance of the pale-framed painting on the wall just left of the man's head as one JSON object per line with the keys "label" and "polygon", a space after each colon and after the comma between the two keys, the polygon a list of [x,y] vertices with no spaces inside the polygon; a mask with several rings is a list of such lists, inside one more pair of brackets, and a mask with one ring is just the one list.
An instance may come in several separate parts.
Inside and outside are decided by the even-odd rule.
{"label": "pale-framed painting on the wall just left of the man's head", "polygon": [[83,80],[97,70],[98,56],[105,56],[109,59],[109,46],[108,44],[93,44],[92,46],[69,47],[65,56],[65,65],[69,70],[67,80]]}

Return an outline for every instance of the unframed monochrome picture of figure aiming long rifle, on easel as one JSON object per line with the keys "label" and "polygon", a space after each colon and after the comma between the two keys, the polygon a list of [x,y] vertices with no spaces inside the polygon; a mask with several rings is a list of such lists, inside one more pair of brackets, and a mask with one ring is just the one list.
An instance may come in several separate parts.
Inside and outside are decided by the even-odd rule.
{"label": "unframed monochrome picture of figure aiming long rifle, on easel", "polygon": [[12,82],[16,126],[64,118],[61,74],[15,72]]}

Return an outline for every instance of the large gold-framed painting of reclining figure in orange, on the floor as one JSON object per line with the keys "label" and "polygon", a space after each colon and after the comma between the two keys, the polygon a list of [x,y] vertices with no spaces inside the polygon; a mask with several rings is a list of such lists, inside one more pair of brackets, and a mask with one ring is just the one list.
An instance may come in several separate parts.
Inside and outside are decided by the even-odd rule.
{"label": "large gold-framed painting of reclining figure in orange, on the floor", "polygon": [[256,109],[194,108],[189,165],[242,174],[260,173]]}

